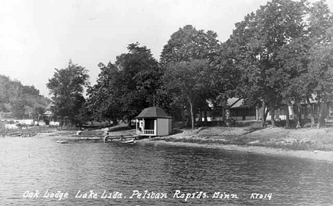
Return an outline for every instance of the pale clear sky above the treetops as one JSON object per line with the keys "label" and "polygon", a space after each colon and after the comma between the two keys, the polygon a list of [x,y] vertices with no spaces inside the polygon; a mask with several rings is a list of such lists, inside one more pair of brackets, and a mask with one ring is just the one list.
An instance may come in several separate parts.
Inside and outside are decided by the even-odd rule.
{"label": "pale clear sky above the treetops", "polygon": [[[172,33],[186,25],[211,30],[224,42],[235,23],[267,0],[1,0],[0,75],[33,85],[46,83],[69,60],[89,70],[115,62],[127,45],[140,43],[159,60]],[[327,1],[333,11],[333,2]]]}

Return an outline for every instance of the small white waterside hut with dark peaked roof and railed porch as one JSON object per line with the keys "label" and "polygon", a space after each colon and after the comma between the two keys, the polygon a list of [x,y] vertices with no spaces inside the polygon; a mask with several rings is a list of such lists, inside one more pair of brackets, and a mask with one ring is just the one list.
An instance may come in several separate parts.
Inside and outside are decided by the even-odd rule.
{"label": "small white waterside hut with dark peaked roof and railed porch", "polygon": [[172,133],[172,118],[160,107],[148,107],[135,117],[137,135],[168,136]]}

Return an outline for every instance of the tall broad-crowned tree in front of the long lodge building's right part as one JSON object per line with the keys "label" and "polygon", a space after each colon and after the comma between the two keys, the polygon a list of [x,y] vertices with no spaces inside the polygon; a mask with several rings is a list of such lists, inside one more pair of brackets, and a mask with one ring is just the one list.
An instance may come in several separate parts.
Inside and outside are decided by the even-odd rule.
{"label": "tall broad-crowned tree in front of the long lodge building's right part", "polygon": [[228,40],[241,73],[237,93],[249,104],[260,102],[262,126],[268,111],[281,107],[286,75],[277,55],[304,33],[305,11],[305,1],[273,0],[236,23]]}

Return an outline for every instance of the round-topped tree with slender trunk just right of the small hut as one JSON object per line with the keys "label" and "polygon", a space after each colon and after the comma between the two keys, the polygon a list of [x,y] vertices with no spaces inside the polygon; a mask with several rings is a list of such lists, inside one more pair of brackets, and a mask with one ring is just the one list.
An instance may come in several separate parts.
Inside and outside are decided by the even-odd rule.
{"label": "round-topped tree with slender trunk just right of the small hut", "polygon": [[[191,85],[196,80],[196,77],[193,77],[193,81],[189,81],[189,75],[193,75],[193,71],[196,70],[196,66],[194,63],[199,63],[200,67],[202,63],[206,64],[204,66],[204,70],[201,72],[201,77],[206,75],[209,77],[212,75],[212,72],[208,73],[210,67],[210,62],[213,61],[213,58],[217,55],[218,49],[220,47],[220,43],[217,40],[217,34],[213,31],[203,31],[203,30],[196,30],[191,25],[184,26],[183,28],[179,28],[178,31],[171,35],[171,38],[168,40],[168,43],[164,45],[162,50],[160,63],[165,70],[166,77],[166,84],[162,87],[162,90],[159,90],[159,94],[164,94],[162,97],[168,97],[165,95],[169,93],[170,84],[167,82],[172,82],[174,79],[169,79],[170,75],[169,72],[176,71],[177,66],[180,67],[180,71],[183,75],[181,78],[186,80],[186,84]],[[184,64],[189,63],[190,67],[189,70],[184,68]],[[180,74],[178,74],[180,75]],[[171,75],[172,76],[172,75]],[[208,78],[206,78],[208,80]],[[170,98],[164,99],[164,101],[169,102],[168,104],[175,108],[178,105],[178,108],[190,108],[189,114],[193,114],[196,109],[206,109],[207,103],[206,99],[209,99],[216,93],[216,90],[213,89],[213,84],[211,80],[205,82],[201,82],[201,84],[206,84],[206,87],[201,87],[201,93],[196,93],[196,98],[193,98],[193,95],[190,94],[190,90],[185,92],[184,88],[181,88],[181,95],[179,93],[179,97],[175,98],[173,94],[169,94]],[[193,87],[198,86],[198,84],[194,83]],[[191,87],[191,86],[190,86]],[[204,88],[204,90],[203,90]],[[193,91],[196,91],[196,88],[192,88]],[[195,92],[193,92],[195,93]],[[159,95],[160,96],[160,95]],[[189,100],[189,96],[191,100]],[[171,101],[170,101],[171,100]],[[195,101],[194,101],[195,100]],[[189,106],[189,107],[188,107]],[[169,107],[170,108],[170,107]],[[176,107],[177,108],[177,107]],[[174,109],[177,110],[177,109]],[[183,113],[186,113],[186,110],[183,109]],[[185,115],[183,115],[185,116]],[[192,119],[192,127],[194,127],[194,115],[191,115]]]}

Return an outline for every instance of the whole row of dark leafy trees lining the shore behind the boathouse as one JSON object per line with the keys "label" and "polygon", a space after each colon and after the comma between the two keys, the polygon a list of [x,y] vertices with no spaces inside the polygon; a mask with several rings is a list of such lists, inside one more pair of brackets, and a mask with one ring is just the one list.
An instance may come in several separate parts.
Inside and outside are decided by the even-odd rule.
{"label": "whole row of dark leafy trees lining the shore behind the boathouse", "polygon": [[[249,107],[265,108],[263,126],[270,110],[288,106],[300,126],[301,102],[310,105],[312,97],[319,103],[328,101],[333,89],[333,15],[324,1],[273,0],[235,26],[224,43],[214,31],[179,28],[159,61],[146,46],[132,43],[115,63],[98,65],[100,75],[97,84],[88,87],[87,99],[82,98],[82,87],[66,94],[53,91],[50,80],[56,114],[116,122],[156,105],[175,119],[191,120],[194,128],[195,114],[207,111],[207,100],[218,111],[228,98],[239,97]],[[76,82],[87,85],[86,72],[79,73],[84,81]],[[66,104],[61,113],[61,102],[68,103],[65,97],[78,104]],[[311,115],[314,124],[313,111]]]}

